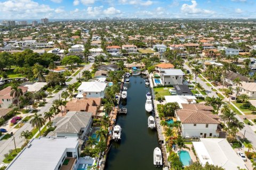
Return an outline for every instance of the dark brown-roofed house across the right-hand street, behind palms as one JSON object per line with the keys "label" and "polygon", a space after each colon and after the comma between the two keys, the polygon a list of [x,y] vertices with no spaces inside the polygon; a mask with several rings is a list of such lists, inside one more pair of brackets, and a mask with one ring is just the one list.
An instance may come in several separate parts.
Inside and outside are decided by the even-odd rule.
{"label": "dark brown-roofed house across the right-hand street, behind palms", "polygon": [[226,77],[225,77],[225,82],[224,82],[225,86],[226,87],[236,86],[235,82],[233,82],[236,78],[239,78],[241,80],[241,82],[250,82],[250,80],[248,78],[246,78],[245,76],[243,76],[239,73],[228,71],[226,73]]}

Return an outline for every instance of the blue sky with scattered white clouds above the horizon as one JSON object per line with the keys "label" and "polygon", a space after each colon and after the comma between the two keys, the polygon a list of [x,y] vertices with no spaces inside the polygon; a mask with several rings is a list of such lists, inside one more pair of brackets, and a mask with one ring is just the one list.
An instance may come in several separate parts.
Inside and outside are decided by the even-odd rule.
{"label": "blue sky with scattered white clouds above the horizon", "polygon": [[0,19],[256,18],[256,0],[0,0]]}

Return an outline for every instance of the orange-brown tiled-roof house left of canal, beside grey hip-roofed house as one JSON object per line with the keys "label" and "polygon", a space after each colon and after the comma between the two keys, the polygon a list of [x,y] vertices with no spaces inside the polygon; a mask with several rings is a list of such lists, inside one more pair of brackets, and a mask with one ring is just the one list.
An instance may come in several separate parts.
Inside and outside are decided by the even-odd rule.
{"label": "orange-brown tiled-roof house left of canal, beside grey hip-roofed house", "polygon": [[68,101],[65,106],[65,112],[90,112],[92,116],[96,116],[101,105],[101,98],[87,98],[87,94],[83,94],[82,99],[74,99]]}

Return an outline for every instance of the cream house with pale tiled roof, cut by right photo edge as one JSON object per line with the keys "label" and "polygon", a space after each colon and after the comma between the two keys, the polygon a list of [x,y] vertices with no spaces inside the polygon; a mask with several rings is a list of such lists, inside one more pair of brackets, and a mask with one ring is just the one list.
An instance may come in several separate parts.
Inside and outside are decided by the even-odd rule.
{"label": "cream house with pale tiled roof, cut by right photo edge", "polygon": [[250,99],[256,99],[256,83],[255,82],[242,82],[239,86],[238,95],[246,94]]}

